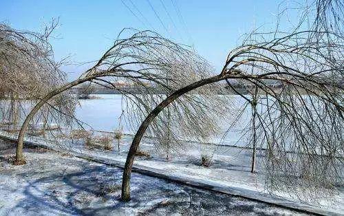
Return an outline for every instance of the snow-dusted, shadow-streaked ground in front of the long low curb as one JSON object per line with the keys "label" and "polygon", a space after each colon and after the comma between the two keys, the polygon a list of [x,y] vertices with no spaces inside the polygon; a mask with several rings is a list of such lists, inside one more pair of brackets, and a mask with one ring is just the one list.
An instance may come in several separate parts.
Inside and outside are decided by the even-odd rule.
{"label": "snow-dusted, shadow-streaked ground in front of the long low curb", "polygon": [[297,215],[299,213],[133,173],[130,202],[120,202],[122,170],[0,140],[0,215]]}

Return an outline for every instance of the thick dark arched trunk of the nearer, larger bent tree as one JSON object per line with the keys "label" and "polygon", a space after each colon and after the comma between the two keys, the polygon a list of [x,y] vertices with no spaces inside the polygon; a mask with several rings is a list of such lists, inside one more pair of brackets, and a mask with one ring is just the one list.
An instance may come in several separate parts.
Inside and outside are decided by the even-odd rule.
{"label": "thick dark arched trunk of the nearer, larger bent tree", "polygon": [[192,83],[191,85],[188,85],[186,87],[182,87],[178,91],[175,91],[173,94],[168,96],[165,100],[160,102],[160,104],[155,107],[151,111],[151,113],[147,116],[147,118],[144,119],[144,121],[141,123],[140,128],[135,134],[135,137],[133,138],[133,142],[131,142],[131,146],[127,155],[127,160],[125,162],[125,169],[123,171],[123,177],[122,177],[122,200],[127,202],[130,200],[130,177],[131,177],[131,169],[133,166],[133,160],[135,159],[135,153],[138,150],[140,141],[142,139],[142,136],[144,135],[144,132],[147,130],[151,122],[154,120],[156,116],[169,105],[171,102],[173,102],[175,99],[179,98],[183,94],[186,94],[187,92],[196,89],[197,87],[201,87],[203,85],[216,83],[219,80],[224,80],[229,77],[229,74],[219,74],[217,76],[212,76],[210,78],[206,78],[204,80],[199,80],[195,83]]}

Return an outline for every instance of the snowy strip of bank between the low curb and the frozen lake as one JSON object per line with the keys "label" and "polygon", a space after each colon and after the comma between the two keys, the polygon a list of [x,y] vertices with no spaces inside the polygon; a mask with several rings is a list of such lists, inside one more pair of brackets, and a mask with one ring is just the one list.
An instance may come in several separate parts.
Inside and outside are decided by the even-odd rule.
{"label": "snowy strip of bank between the low curb and the frozen lake", "polygon": [[[10,136],[10,133],[1,132],[1,136]],[[98,134],[99,135],[99,134]],[[17,138],[17,136],[12,136]],[[117,147],[114,146],[113,151],[104,151],[101,149],[87,149],[83,141],[74,142],[65,140],[62,145],[47,142],[39,137],[26,136],[25,140],[30,140],[34,144],[40,144],[52,149],[60,149],[68,151],[74,155],[85,155],[85,158],[91,158],[98,162],[106,162],[116,166],[123,166],[127,156],[127,149],[131,143],[131,136],[125,136],[120,142],[120,153]],[[116,144],[116,141],[115,143]],[[317,213],[336,213],[341,215],[344,212],[343,188],[339,188],[338,195],[331,197],[328,201],[323,200],[323,205],[319,203],[303,203],[298,199],[292,199],[286,193],[279,193],[278,196],[271,196],[266,191],[264,185],[264,169],[260,165],[259,158],[264,157],[264,151],[257,152],[257,173],[250,173],[250,161],[252,149],[234,148],[228,146],[208,147],[208,153],[213,152],[213,163],[210,167],[200,166],[201,152],[200,144],[189,143],[184,145],[185,149],[179,152],[170,154],[170,160],[166,160],[166,155],[159,151],[155,151],[150,138],[144,138],[140,144],[142,151],[147,151],[151,154],[151,158],[136,157],[134,166],[139,169],[147,170],[149,172],[164,175],[171,180],[182,180],[182,182],[196,182],[192,185],[207,185],[206,188],[217,188],[215,191],[223,191],[229,194],[237,194],[251,199],[258,199],[264,202],[274,204],[281,204],[282,206],[291,206],[299,209],[316,210]],[[204,150],[204,149],[203,149]],[[161,176],[160,176],[161,177]],[[229,189],[228,189],[229,188]],[[214,189],[213,189],[214,190]],[[226,190],[229,190],[226,191]],[[325,210],[325,211],[323,211]],[[330,210],[330,212],[328,211]]]}

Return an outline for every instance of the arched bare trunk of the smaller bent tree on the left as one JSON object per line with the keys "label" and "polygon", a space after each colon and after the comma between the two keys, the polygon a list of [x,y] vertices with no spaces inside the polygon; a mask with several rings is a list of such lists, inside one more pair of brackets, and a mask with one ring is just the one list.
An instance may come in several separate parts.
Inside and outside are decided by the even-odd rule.
{"label": "arched bare trunk of the smaller bent tree on the left", "polygon": [[70,89],[70,88],[72,88],[72,87],[74,87],[80,83],[85,83],[86,81],[92,80],[95,77],[96,76],[88,76],[85,78],[80,78],[80,79],[74,80],[70,83],[63,85],[62,87],[59,87],[58,89],[54,89],[53,91],[50,91],[50,93],[48,93],[44,98],[42,98],[36,104],[36,106],[34,106],[34,108],[30,111],[28,116],[26,116],[25,121],[23,122],[23,125],[21,126],[21,130],[20,130],[19,136],[18,136],[16,160],[14,160],[14,163],[13,163],[14,165],[22,165],[22,164],[26,163],[25,159],[23,158],[23,140],[24,140],[24,136],[25,136],[25,131],[28,129],[28,125],[29,125],[30,120],[32,120],[32,118],[37,113],[37,111],[39,111],[39,109],[41,109],[41,107],[43,107],[45,102],[50,100],[52,97],[60,94],[61,92],[66,91],[67,89]]}

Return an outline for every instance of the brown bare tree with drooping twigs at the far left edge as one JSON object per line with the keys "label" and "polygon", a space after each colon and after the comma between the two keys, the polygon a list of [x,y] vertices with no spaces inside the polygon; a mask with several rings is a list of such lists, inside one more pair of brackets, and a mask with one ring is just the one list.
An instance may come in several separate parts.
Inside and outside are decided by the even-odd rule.
{"label": "brown bare tree with drooping twigs at the far left edge", "polygon": [[[49,43],[56,25],[58,21],[53,20],[43,33],[39,33],[14,30],[6,24],[0,24],[0,88],[5,96],[0,102],[1,116],[3,121],[12,119],[14,131],[30,106],[47,91],[66,82],[65,73],[59,69],[62,62],[54,61]],[[74,115],[75,104],[76,101],[69,94],[56,96],[45,104],[31,124],[36,125],[36,122],[43,120],[43,131],[47,128],[47,122],[58,121],[61,125],[67,125]]]}

